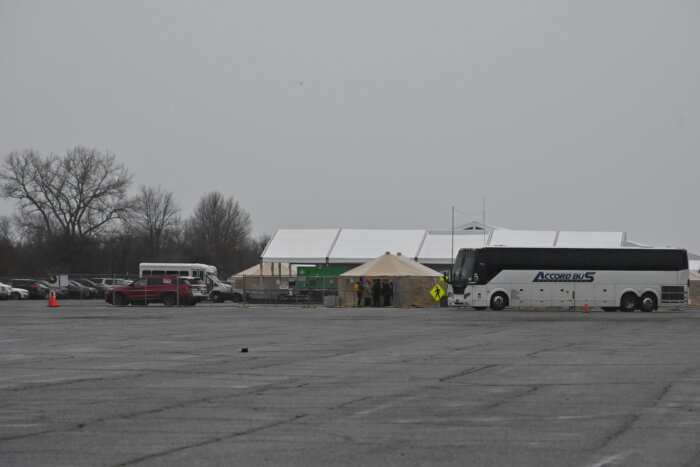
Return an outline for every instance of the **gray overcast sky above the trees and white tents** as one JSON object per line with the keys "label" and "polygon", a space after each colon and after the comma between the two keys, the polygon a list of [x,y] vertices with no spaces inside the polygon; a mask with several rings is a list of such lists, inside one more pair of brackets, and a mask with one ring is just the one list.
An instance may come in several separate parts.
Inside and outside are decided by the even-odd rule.
{"label": "gray overcast sky above the trees and white tents", "polygon": [[0,155],[76,145],[256,235],[486,198],[700,253],[700,2],[0,0]]}

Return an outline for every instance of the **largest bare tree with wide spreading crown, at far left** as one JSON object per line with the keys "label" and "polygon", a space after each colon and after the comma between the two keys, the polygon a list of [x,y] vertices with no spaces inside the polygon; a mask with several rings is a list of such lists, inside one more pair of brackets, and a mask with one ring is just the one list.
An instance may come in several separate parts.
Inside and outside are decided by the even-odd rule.
{"label": "largest bare tree with wide spreading crown, at far left", "polygon": [[78,146],[64,157],[42,157],[25,150],[3,165],[0,196],[17,200],[23,226],[49,238],[97,235],[127,210],[132,176],[110,152]]}

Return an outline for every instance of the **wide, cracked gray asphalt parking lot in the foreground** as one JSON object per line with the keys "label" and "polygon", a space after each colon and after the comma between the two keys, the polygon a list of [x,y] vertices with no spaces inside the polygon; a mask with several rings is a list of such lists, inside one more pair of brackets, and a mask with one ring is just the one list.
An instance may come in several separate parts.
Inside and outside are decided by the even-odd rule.
{"label": "wide, cracked gray asphalt parking lot in the foreground", "polygon": [[700,465],[700,309],[7,301],[0,323],[0,465]]}

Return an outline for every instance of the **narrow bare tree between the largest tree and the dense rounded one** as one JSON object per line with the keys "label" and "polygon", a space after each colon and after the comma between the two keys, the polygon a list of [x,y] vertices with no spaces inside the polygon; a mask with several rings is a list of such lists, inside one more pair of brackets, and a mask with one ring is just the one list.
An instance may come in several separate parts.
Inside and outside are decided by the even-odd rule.
{"label": "narrow bare tree between the largest tree and the dense rounded one", "polygon": [[157,188],[141,186],[131,204],[132,220],[137,230],[148,238],[153,261],[159,261],[163,237],[179,223],[180,208],[175,197],[160,185]]}

